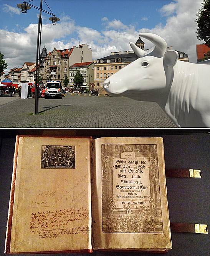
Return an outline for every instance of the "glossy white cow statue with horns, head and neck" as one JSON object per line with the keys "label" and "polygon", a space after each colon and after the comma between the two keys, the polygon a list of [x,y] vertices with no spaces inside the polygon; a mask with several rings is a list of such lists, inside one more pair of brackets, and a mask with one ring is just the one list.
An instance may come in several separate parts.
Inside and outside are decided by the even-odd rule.
{"label": "glossy white cow statue with horns, head and neck", "polygon": [[131,42],[140,58],[107,78],[104,90],[112,96],[157,102],[177,127],[210,127],[210,67],[178,60],[178,53],[167,50],[158,35],[139,36],[154,47],[145,51]]}

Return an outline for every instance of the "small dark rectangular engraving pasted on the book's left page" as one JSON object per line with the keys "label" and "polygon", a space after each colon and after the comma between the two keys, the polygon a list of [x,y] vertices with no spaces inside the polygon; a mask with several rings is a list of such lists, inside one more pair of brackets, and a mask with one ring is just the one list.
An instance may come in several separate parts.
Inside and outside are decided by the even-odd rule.
{"label": "small dark rectangular engraving pasted on the book's left page", "polygon": [[75,168],[75,146],[41,146],[41,169]]}

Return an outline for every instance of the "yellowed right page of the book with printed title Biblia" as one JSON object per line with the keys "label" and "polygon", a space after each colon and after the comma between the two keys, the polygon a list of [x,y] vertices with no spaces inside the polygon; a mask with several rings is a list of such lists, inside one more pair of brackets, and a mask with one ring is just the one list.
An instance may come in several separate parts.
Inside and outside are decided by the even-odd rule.
{"label": "yellowed right page of the book with printed title Biblia", "polygon": [[162,138],[94,143],[94,248],[171,249]]}

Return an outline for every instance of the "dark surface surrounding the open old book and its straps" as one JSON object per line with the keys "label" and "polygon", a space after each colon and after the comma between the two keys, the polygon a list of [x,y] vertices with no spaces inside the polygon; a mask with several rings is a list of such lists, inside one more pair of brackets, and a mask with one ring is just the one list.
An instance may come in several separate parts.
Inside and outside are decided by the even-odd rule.
{"label": "dark surface surrounding the open old book and its straps", "polygon": [[[0,256],[4,254],[7,214],[12,180],[15,137],[21,135],[154,137],[164,138],[165,167],[201,169],[202,178],[167,178],[170,222],[209,224],[210,131],[184,129],[78,129],[78,130],[0,130]],[[30,159],[29,159],[30,163]],[[209,234],[172,233],[168,256],[209,256]],[[69,248],[71,245],[69,244]],[[20,254],[19,254],[20,255]],[[36,254],[35,254],[36,255]],[[48,254],[40,254],[47,256]],[[50,254],[49,254],[50,255]],[[56,254],[58,256],[66,254]],[[90,254],[71,254],[89,256]],[[93,256],[147,256],[149,253],[94,251]]]}

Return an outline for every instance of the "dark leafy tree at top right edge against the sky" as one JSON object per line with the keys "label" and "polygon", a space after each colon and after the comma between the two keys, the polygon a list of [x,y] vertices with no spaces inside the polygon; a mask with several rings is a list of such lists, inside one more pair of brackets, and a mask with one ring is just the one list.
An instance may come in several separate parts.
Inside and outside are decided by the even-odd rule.
{"label": "dark leafy tree at top right edge against the sky", "polygon": [[210,47],[210,0],[201,3],[202,8],[197,13],[197,38],[204,40],[204,44]]}

